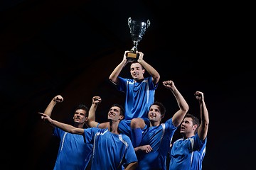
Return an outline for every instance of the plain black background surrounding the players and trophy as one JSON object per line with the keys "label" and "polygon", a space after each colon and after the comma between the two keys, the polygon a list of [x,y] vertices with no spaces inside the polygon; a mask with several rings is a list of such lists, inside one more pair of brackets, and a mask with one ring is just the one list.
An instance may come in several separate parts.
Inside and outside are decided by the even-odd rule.
{"label": "plain black background surrounding the players and trophy", "polygon": [[[213,2],[212,2],[213,3]],[[252,169],[255,64],[250,4],[171,1],[2,1],[0,102],[5,169],[53,169],[58,142],[38,115],[60,94],[52,118],[72,123],[78,103],[101,96],[97,121],[124,103],[108,81],[132,47],[127,19],[151,21],[139,51],[161,75],[156,100],[166,117],[178,109],[161,82],[173,80],[199,116],[203,91],[210,116],[203,169]],[[125,68],[121,75],[129,77]],[[252,110],[253,109],[253,110]],[[174,135],[176,140],[180,135]],[[3,144],[4,142],[4,144]],[[7,168],[6,168],[7,167]]]}

